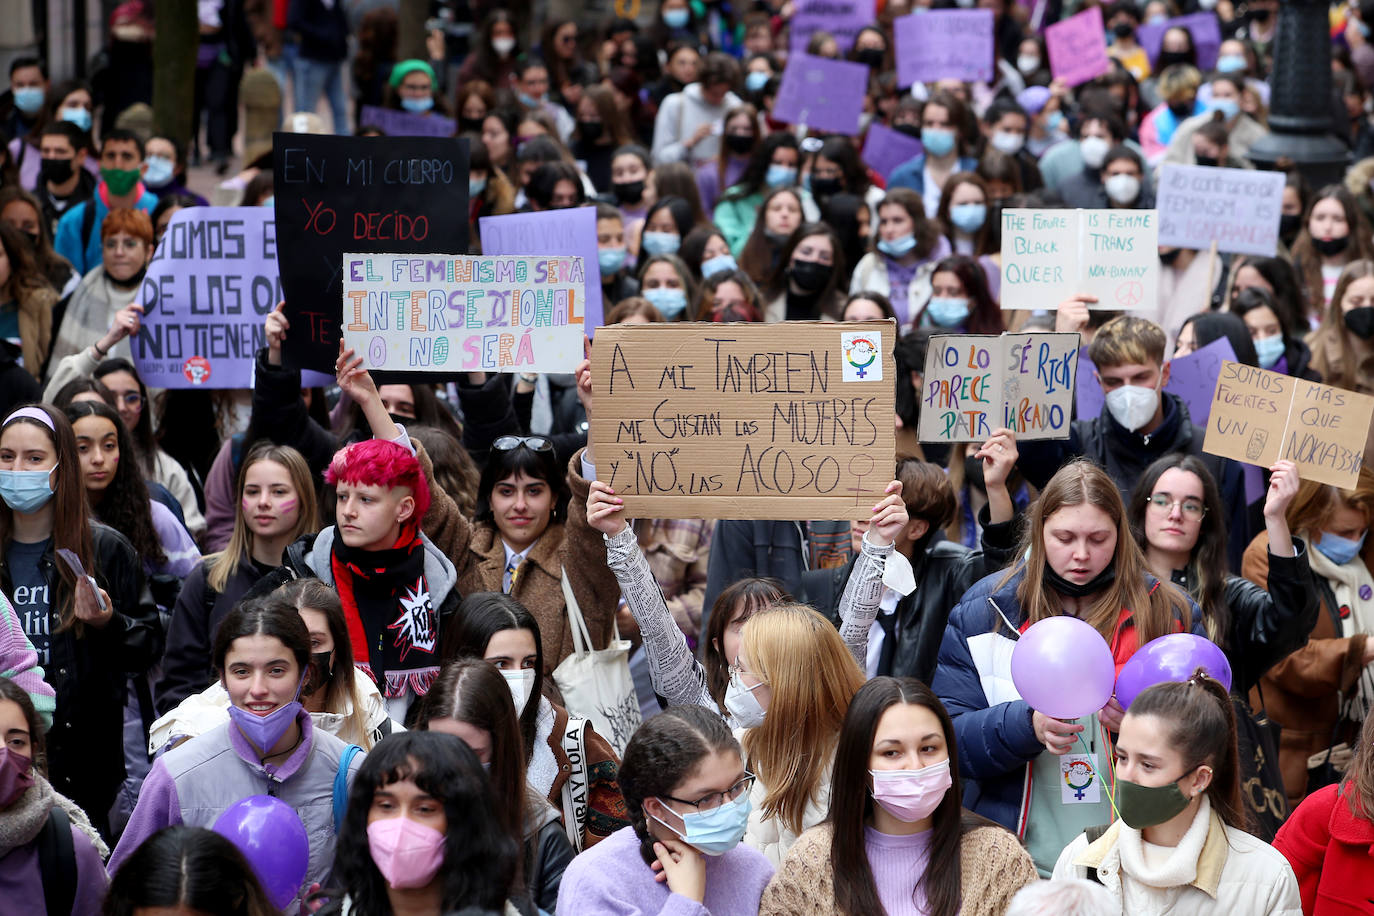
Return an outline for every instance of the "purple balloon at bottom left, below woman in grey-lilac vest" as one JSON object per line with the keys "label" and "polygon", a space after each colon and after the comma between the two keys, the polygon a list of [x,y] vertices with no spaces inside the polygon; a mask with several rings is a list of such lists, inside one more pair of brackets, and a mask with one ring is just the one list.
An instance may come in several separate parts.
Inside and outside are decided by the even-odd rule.
{"label": "purple balloon at bottom left, below woman in grey-lilac vest", "polygon": [[271,795],[249,795],[224,809],[214,832],[239,847],[272,905],[295,900],[311,865],[311,840],[290,805]]}

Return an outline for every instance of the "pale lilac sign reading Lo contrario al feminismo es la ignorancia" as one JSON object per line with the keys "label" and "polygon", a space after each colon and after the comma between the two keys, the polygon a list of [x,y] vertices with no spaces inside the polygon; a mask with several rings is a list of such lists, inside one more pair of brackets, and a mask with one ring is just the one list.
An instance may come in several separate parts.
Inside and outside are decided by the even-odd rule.
{"label": "pale lilac sign reading Lo contrario al feminismo es la ignorancia", "polygon": [[1156,206],[1160,244],[1274,257],[1283,173],[1165,162]]}

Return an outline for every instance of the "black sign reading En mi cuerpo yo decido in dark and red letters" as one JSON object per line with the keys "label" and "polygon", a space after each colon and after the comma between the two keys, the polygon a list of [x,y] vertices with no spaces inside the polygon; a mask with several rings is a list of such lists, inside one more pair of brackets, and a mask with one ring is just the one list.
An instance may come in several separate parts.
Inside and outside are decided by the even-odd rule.
{"label": "black sign reading En mi cuerpo yo decido in dark and red letters", "polygon": [[467,141],[276,133],[287,365],[333,374],[345,251],[467,251]]}

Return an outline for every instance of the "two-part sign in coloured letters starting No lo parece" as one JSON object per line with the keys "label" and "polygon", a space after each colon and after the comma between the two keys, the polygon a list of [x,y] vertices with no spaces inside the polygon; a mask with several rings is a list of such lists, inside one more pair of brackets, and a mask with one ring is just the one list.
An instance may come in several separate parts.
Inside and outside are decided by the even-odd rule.
{"label": "two-part sign in coloured letters starting No lo parece", "polygon": [[922,442],[1066,439],[1073,419],[1077,334],[959,334],[930,338],[921,391]]}

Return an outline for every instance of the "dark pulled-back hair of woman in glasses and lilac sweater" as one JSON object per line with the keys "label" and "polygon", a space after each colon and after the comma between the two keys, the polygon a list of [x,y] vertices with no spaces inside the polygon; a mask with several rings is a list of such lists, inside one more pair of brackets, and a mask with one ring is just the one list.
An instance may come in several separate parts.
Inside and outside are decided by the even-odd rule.
{"label": "dark pulled-back hair of woman in glasses and lilac sweater", "polygon": [[672,795],[708,754],[734,751],[739,742],[719,713],[701,706],[673,706],[640,725],[620,761],[620,791],[629,824],[639,838],[639,854],[653,865],[654,838],[649,834],[644,799]]}

